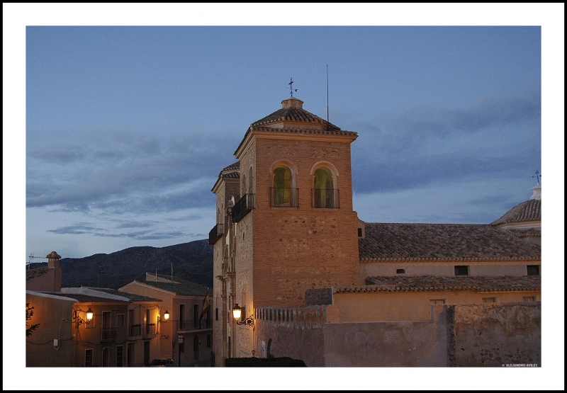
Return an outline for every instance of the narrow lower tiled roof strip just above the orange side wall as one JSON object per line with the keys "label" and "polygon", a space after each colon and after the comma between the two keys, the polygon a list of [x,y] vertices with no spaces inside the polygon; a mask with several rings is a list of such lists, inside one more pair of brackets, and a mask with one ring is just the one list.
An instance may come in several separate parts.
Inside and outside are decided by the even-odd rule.
{"label": "narrow lower tiled roof strip just above the orange side wall", "polygon": [[476,292],[540,291],[541,275],[517,276],[440,276],[415,275],[374,276],[366,278],[366,287],[335,288],[335,293],[347,292],[423,292],[473,290]]}

